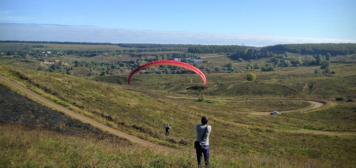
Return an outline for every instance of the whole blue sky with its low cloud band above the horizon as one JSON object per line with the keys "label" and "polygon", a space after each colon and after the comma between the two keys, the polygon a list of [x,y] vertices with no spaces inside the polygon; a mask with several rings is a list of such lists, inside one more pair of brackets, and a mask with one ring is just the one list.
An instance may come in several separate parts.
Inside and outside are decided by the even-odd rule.
{"label": "whole blue sky with its low cloud band above the horizon", "polygon": [[356,42],[356,0],[0,0],[0,40]]}

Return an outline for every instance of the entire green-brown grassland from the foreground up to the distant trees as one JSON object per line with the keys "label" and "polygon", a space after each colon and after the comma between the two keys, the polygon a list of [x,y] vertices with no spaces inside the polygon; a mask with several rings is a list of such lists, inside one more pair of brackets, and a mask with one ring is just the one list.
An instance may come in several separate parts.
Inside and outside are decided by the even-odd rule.
{"label": "entire green-brown grassland from the foreground up to the distant trees", "polygon": [[[59,47],[51,45],[48,47]],[[60,47],[75,47],[67,45]],[[149,56],[152,53],[57,58],[68,62],[115,63]],[[94,137],[85,139],[45,131],[43,136],[36,137],[33,131],[16,128],[22,132],[20,135],[10,131],[13,126],[2,125],[0,144],[5,145],[0,145],[1,150],[13,150],[3,155],[6,159],[0,161],[0,167],[126,167],[129,164],[194,167],[194,126],[199,124],[201,116],[208,116],[212,126],[213,167],[354,167],[356,164],[356,58],[352,55],[332,57],[331,61],[335,62],[330,68],[336,74],[315,74],[320,66],[278,67],[276,71],[262,72],[246,70],[248,61],[237,62],[228,56],[203,58],[210,61],[203,66],[223,68],[232,63],[242,70],[206,72],[206,86],[202,86],[196,74],[153,73],[134,75],[129,86],[129,68],[108,70],[116,74],[103,76],[99,70],[87,67],[74,67],[69,73],[49,72],[36,70],[42,65],[31,59],[2,57],[0,75],[105,125],[181,153],[168,154],[130,144],[96,142]],[[269,60],[262,58],[252,63],[264,65]],[[248,72],[257,75],[255,82],[246,80]],[[198,101],[199,96],[205,100]],[[335,100],[341,96],[343,101]],[[314,104],[310,101],[321,102],[322,106],[311,109]],[[273,110],[280,114],[268,115]],[[173,125],[170,138],[164,136],[164,123]],[[15,142],[21,145],[16,146]],[[41,147],[41,143],[45,146]],[[91,155],[93,143],[98,143],[98,149]],[[21,160],[25,156],[23,149],[34,152]],[[44,151],[48,152],[41,155]],[[35,161],[39,156],[43,161]],[[82,165],[76,165],[79,161],[83,161]]]}

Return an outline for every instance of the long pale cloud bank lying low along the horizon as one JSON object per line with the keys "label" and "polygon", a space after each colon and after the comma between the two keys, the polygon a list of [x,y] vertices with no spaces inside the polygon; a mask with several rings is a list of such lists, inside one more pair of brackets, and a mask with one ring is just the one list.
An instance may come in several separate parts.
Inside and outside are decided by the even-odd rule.
{"label": "long pale cloud bank lying low along the horizon", "polygon": [[283,43],[356,43],[356,40],[252,36],[243,34],[99,29],[56,24],[0,23],[0,40],[112,43],[238,44],[266,46]]}

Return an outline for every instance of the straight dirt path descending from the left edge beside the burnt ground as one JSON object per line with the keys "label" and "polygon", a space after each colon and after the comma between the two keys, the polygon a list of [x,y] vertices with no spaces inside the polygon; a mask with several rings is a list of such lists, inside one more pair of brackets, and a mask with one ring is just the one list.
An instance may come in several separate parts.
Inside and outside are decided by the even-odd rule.
{"label": "straight dirt path descending from the left edge beside the burnt ground", "polygon": [[143,140],[143,139],[140,139],[140,138],[137,138],[133,135],[130,135],[130,134],[127,134],[125,132],[121,132],[117,129],[114,129],[112,127],[109,127],[109,126],[105,126],[97,121],[94,121],[84,115],[81,115],[81,114],[78,114],[76,112],[73,112],[71,110],[68,110],[58,104],[55,104],[47,99],[45,99],[44,97],[42,97],[41,95],[19,85],[19,84],[16,84],[10,80],[8,80],[7,78],[3,77],[0,75],[0,79],[2,81],[4,81],[5,83],[9,84],[11,87],[19,90],[20,92],[23,92],[26,94],[26,97],[32,99],[32,100],[36,100],[37,102],[39,102],[40,104],[46,106],[46,107],[49,107],[53,110],[56,110],[60,113],[63,113],[64,115],[66,116],[69,116],[73,119],[76,119],[78,121],[81,121],[83,123],[86,123],[86,124],[89,124],[90,126],[94,126],[96,128],[99,128],[105,132],[108,132],[110,134],[113,134],[113,135],[117,135],[121,138],[124,138],[124,139],[127,139],[129,140],[130,142],[132,143],[135,143],[135,144],[139,144],[139,145],[143,145],[143,146],[149,146],[149,147],[152,147],[152,148],[155,148],[155,149],[159,149],[159,150],[165,150],[165,151],[172,151],[173,149],[170,148],[170,147],[167,147],[167,146],[163,146],[163,145],[158,145],[158,144],[155,144],[155,143],[152,143],[152,142],[149,142],[149,141],[146,141],[146,140]]}

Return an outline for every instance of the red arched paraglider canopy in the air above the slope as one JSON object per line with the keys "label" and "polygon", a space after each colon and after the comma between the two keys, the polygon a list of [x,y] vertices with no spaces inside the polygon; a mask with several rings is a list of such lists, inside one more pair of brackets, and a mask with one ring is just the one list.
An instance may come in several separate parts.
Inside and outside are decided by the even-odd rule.
{"label": "red arched paraglider canopy in the air above the slope", "polygon": [[143,68],[148,68],[148,67],[158,66],[158,65],[174,65],[174,66],[178,66],[178,67],[182,67],[182,68],[194,71],[195,73],[197,73],[203,79],[204,85],[206,85],[206,83],[207,83],[205,75],[197,67],[194,67],[194,66],[192,66],[190,64],[187,64],[187,63],[184,63],[184,62],[180,62],[180,61],[158,60],[158,61],[152,61],[152,62],[143,64],[140,67],[136,68],[134,71],[132,71],[130,73],[130,75],[129,75],[129,78],[128,78],[128,84],[130,85],[131,77],[135,73],[137,73],[138,71],[142,70]]}

